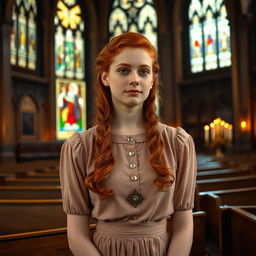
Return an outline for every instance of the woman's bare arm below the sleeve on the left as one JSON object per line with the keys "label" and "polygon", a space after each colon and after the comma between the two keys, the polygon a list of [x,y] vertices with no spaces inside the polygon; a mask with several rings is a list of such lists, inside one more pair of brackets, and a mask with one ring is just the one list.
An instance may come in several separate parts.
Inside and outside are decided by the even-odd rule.
{"label": "woman's bare arm below the sleeve on the left", "polygon": [[90,239],[89,218],[87,215],[67,215],[69,248],[74,256],[100,256]]}

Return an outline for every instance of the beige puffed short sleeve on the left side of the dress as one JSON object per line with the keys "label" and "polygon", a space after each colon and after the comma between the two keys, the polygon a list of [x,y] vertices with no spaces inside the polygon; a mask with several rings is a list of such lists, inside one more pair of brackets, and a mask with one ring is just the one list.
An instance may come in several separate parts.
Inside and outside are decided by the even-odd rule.
{"label": "beige puffed short sleeve on the left side of the dress", "polygon": [[79,133],[64,142],[60,157],[63,210],[72,215],[90,215],[90,197],[85,186],[85,152]]}

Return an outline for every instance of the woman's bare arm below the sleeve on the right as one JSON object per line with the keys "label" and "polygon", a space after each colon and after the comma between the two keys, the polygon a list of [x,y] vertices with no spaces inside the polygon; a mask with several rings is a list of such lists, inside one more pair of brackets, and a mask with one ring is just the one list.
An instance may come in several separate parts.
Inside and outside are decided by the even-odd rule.
{"label": "woman's bare arm below the sleeve on the right", "polygon": [[175,212],[171,223],[172,237],[167,256],[188,256],[193,242],[192,210]]}

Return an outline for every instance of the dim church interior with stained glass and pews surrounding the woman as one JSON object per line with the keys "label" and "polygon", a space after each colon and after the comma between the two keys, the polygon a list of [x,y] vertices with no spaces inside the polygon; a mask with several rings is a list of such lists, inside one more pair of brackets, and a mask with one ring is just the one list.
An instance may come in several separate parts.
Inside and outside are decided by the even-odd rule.
{"label": "dim church interior with stained glass and pews surrounding the woman", "polygon": [[190,255],[253,255],[254,0],[0,1],[0,254],[72,255],[60,149],[93,126],[95,58],[127,31],[157,49],[161,122],[195,142]]}

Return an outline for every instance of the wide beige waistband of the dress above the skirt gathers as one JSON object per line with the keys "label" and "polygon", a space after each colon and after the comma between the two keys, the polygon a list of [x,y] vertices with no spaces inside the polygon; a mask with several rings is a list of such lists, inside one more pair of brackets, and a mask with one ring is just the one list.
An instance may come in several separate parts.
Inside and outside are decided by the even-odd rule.
{"label": "wide beige waistband of the dress above the skirt gathers", "polygon": [[140,237],[167,233],[167,220],[129,223],[122,221],[101,221],[96,224],[96,232],[119,237]]}

